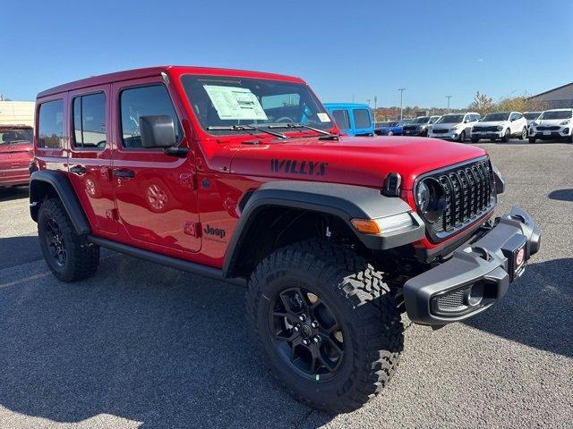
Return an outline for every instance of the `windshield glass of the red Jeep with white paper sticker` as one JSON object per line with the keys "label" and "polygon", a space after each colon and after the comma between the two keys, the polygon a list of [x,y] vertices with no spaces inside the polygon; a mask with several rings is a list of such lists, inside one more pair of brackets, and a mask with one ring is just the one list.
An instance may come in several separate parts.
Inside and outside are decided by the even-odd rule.
{"label": "windshield glass of the red Jeep with white paper sticker", "polygon": [[[185,75],[181,79],[203,129],[304,123],[321,130],[334,126],[329,114],[302,83],[227,76]],[[241,130],[210,130],[229,134]]]}

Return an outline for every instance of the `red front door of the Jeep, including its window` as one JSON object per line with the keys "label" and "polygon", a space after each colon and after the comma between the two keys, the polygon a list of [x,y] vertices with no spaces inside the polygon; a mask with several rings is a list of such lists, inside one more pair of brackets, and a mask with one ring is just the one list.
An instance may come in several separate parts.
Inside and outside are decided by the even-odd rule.
{"label": "red front door of the Jeep, including its window", "polygon": [[[194,157],[167,156],[141,146],[140,118],[169,115],[180,146],[188,147],[177,107],[161,78],[113,84],[115,153],[113,180],[119,222],[136,246],[183,256],[201,248]],[[139,242],[139,244],[138,244]]]}

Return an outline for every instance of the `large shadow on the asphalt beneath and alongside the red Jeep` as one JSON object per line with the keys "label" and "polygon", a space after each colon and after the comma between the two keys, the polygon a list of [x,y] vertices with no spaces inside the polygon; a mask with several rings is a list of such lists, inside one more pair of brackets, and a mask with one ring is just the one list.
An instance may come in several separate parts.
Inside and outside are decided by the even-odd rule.
{"label": "large shadow on the asphalt beneath and alongside the red Jeep", "polygon": [[295,427],[312,412],[261,366],[243,288],[115,254],[74,284],[26,281],[30,267],[47,272],[0,280],[0,406],[140,428]]}

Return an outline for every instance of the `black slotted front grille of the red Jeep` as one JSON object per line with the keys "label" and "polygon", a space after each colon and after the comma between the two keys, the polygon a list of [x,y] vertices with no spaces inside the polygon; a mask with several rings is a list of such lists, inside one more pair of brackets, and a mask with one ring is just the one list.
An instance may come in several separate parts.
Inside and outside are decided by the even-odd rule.
{"label": "black slotted front grille of the red Jeep", "polygon": [[442,214],[434,223],[426,221],[433,241],[448,238],[492,210],[496,203],[492,168],[488,159],[423,176],[440,182],[445,195]]}

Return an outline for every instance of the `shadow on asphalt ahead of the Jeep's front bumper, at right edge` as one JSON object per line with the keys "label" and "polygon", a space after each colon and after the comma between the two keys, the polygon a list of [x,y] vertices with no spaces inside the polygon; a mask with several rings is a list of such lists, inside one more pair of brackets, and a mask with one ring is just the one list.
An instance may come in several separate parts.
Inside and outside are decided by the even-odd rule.
{"label": "shadow on asphalt ahead of the Jeep's front bumper, at right edge", "polygon": [[494,306],[465,322],[535,349],[573,357],[573,258],[531,264]]}

